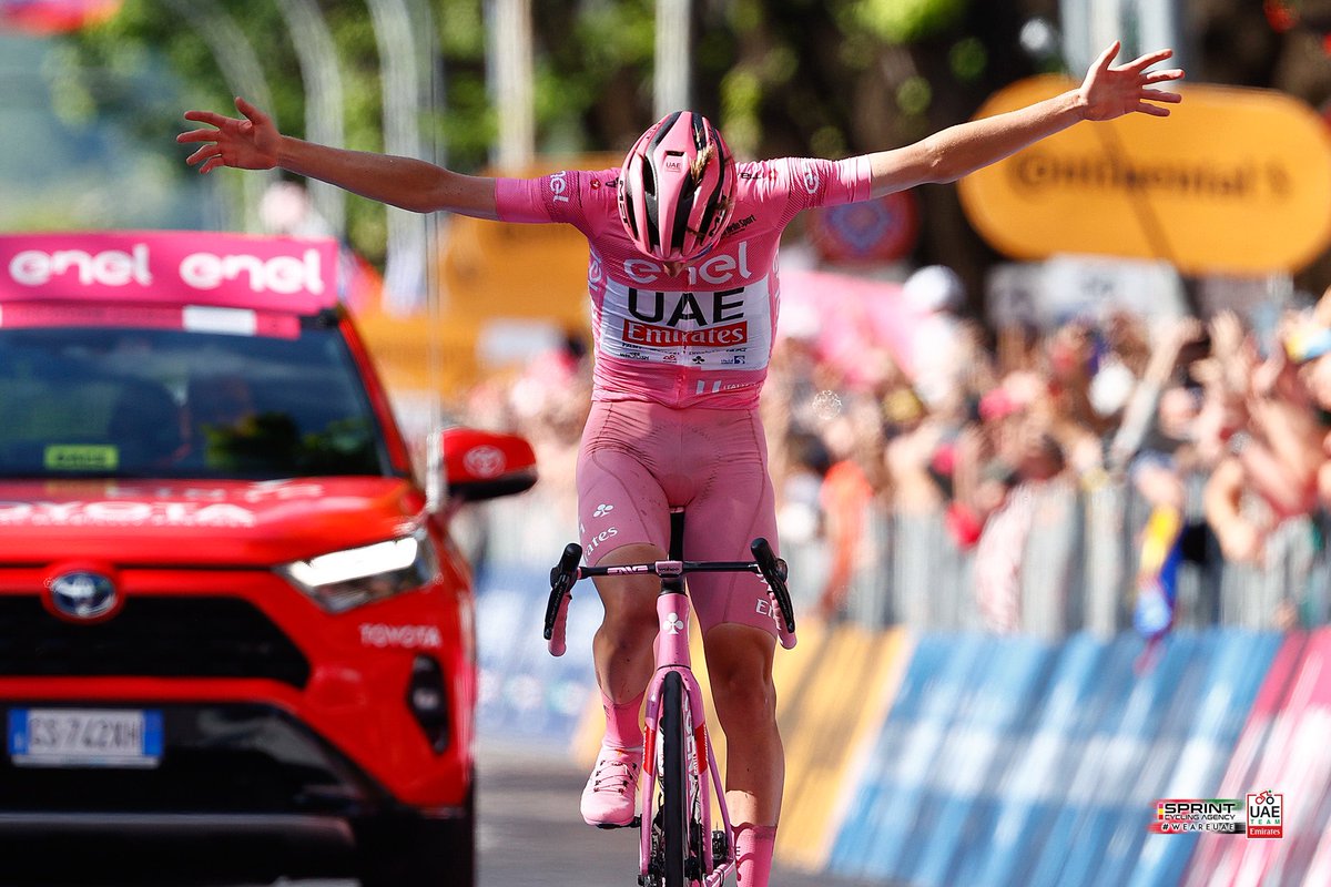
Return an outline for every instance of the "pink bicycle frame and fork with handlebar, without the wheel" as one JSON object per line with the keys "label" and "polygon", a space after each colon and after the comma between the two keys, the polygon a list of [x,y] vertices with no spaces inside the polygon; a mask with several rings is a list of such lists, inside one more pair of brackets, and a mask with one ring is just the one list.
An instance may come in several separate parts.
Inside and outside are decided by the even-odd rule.
{"label": "pink bicycle frame and fork with handlebar, without the wheel", "polygon": [[[655,670],[647,688],[647,711],[643,743],[643,777],[640,786],[640,835],[639,835],[639,883],[648,883],[652,858],[652,806],[656,793],[658,746],[662,742],[662,693],[667,676],[677,674],[683,686],[683,702],[688,717],[688,737],[685,778],[693,783],[687,793],[688,803],[696,805],[700,824],[700,878],[689,878],[688,883],[700,887],[719,887],[735,871],[733,828],[729,810],[725,805],[725,787],[720,767],[707,733],[703,689],[693,676],[689,653],[689,626],[692,605],[684,585],[684,574],[693,572],[756,572],[768,585],[773,613],[777,614],[777,637],[784,648],[795,646],[795,616],[789,592],[785,588],[785,561],[777,559],[767,540],[756,539],[751,545],[753,561],[684,561],[681,555],[681,520],[672,517],[671,557],[672,560],[652,564],[624,564],[616,567],[579,567],[582,548],[570,544],[564,548],[559,564],[550,572],[550,604],[546,609],[544,637],[551,654],[564,653],[564,625],[571,588],[575,581],[588,576],[640,576],[654,573],[660,577],[662,588],[656,596],[658,633],[652,645]],[[715,798],[724,826],[727,854],[716,859],[712,836],[712,801]]]}

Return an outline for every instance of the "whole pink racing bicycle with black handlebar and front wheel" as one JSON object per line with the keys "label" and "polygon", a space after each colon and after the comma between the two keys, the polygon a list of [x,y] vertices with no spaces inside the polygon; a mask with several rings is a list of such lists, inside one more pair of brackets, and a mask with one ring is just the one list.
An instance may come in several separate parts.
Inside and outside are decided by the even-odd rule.
{"label": "whole pink racing bicycle with black handlebar and front wheel", "polygon": [[[753,572],[768,586],[781,646],[795,646],[795,610],[785,586],[787,565],[765,539],[749,545],[752,561],[685,561],[684,515],[671,511],[669,559],[650,564],[583,567],[582,547],[570,543],[550,570],[550,602],[544,638],[552,656],[563,656],[564,625],[572,585],[594,576],[655,573],[662,580],[656,597],[659,634],[654,644],[655,672],[647,690],[643,737],[644,785],[640,814],[628,827],[639,827],[640,887],[717,887],[735,871],[732,826],[716,758],[708,741],[703,690],[693,677],[688,648],[691,605],[684,576],[703,572]],[[704,771],[705,765],[705,771]],[[723,830],[712,831],[712,798]],[[642,828],[642,823],[650,827]]]}

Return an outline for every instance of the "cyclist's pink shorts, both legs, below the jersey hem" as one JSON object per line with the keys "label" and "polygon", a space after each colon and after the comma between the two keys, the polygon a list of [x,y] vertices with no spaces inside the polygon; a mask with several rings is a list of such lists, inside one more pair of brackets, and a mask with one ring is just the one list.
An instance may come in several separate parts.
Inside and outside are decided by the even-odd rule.
{"label": "cyclist's pink shorts, both legs, below the jersey hem", "polygon": [[[669,511],[684,508],[685,560],[749,560],[776,548],[767,438],[756,410],[592,403],[578,456],[578,529],[587,564],[622,545],[669,548]],[[767,584],[755,573],[696,573],[689,596],[705,634],[735,622],[776,634]]]}

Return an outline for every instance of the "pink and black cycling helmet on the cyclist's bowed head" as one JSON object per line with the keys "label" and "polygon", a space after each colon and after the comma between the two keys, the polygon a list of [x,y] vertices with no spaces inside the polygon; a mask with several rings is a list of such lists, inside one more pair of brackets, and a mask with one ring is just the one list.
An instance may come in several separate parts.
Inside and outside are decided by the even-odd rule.
{"label": "pink and black cycling helmet on the cyclist's bowed head", "polygon": [[667,114],[638,138],[619,172],[619,219],[647,255],[687,262],[725,230],[735,158],[707,117]]}

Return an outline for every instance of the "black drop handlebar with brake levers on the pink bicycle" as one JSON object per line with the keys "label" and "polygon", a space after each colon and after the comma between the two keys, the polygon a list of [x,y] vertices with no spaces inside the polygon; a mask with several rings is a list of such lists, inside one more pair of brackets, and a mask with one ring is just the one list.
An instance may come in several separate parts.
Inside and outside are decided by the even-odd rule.
{"label": "black drop handlebar with brake levers on the pink bicycle", "polygon": [[546,604],[544,638],[551,656],[563,656],[564,628],[568,621],[568,602],[572,600],[572,586],[580,578],[591,576],[634,576],[655,573],[656,576],[683,576],[685,573],[744,573],[752,572],[767,582],[768,598],[772,601],[777,624],[777,637],[781,646],[795,646],[795,606],[791,590],[785,585],[788,568],[776,556],[765,539],[755,539],[749,545],[752,561],[654,561],[651,564],[616,564],[614,567],[579,567],[582,545],[568,543],[559,563],[550,570],[550,601]]}

